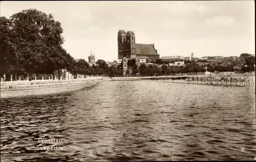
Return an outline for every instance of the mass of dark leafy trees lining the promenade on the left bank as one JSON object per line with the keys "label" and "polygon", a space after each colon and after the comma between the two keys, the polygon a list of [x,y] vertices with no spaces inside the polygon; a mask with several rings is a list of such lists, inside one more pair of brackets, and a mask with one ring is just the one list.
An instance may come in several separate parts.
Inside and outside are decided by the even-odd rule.
{"label": "mass of dark leafy trees lining the promenade on the left bank", "polygon": [[90,67],[86,60],[75,60],[67,53],[62,47],[62,32],[60,22],[52,14],[35,9],[23,10],[10,18],[0,17],[1,76],[52,74],[55,78],[57,71],[59,78],[61,69],[73,75],[109,74],[104,60],[97,60],[97,65]]}

